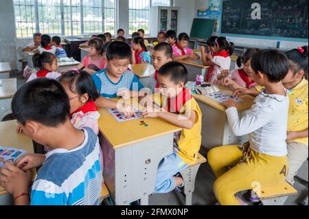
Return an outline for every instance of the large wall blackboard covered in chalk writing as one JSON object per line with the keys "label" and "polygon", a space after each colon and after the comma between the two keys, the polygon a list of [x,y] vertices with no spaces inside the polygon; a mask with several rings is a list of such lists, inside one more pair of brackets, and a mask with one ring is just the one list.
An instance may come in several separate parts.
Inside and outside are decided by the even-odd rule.
{"label": "large wall blackboard covered in chalk writing", "polygon": [[[252,19],[253,3],[261,6]],[[308,38],[308,0],[224,0],[221,34]]]}

